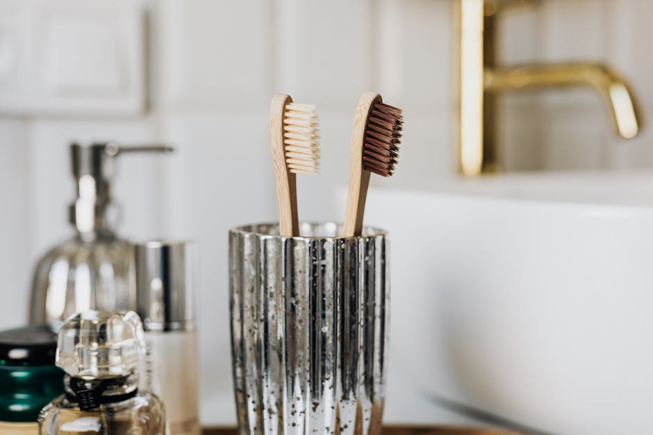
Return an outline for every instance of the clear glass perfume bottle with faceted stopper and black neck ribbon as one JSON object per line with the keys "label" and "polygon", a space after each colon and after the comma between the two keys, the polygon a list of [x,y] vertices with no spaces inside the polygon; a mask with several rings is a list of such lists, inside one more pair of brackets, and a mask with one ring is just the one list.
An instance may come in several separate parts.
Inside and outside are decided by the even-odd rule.
{"label": "clear glass perfume bottle with faceted stopper and black neck ribbon", "polygon": [[39,416],[41,435],[163,435],[160,400],[140,391],[145,350],[135,312],[88,311],[63,323],[56,365],[65,370],[65,394]]}

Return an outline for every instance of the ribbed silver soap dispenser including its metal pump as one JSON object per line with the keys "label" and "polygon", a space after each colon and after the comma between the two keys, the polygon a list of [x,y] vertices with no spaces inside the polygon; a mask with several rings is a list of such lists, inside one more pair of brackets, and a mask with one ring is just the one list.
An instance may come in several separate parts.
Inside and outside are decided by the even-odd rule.
{"label": "ribbed silver soap dispenser including its metal pump", "polygon": [[133,247],[115,234],[111,182],[115,159],[126,153],[167,153],[170,146],[120,146],[114,142],[71,144],[77,198],[69,207],[76,234],[38,262],[32,282],[31,323],[58,327],[89,309],[135,309]]}

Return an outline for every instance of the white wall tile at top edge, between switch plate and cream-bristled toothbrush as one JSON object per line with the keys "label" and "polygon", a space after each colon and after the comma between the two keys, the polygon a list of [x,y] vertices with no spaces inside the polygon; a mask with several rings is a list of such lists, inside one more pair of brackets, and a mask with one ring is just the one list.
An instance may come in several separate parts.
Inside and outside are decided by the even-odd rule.
{"label": "white wall tile at top edge, between switch plate and cream-bristled toothbrush", "polygon": [[272,92],[270,4],[161,1],[158,73],[167,107],[265,105]]}

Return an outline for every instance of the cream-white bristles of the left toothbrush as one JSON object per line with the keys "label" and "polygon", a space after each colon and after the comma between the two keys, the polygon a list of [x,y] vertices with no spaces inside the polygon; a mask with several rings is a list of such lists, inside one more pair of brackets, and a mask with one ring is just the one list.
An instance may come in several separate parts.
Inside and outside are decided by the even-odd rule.
{"label": "cream-white bristles of the left toothbrush", "polygon": [[320,168],[320,135],[314,105],[290,103],[283,112],[283,149],[292,173],[317,173]]}

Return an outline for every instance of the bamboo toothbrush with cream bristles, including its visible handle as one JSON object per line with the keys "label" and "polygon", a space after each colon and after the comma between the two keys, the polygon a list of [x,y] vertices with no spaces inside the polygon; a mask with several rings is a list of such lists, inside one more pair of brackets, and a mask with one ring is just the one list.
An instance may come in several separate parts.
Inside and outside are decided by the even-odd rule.
{"label": "bamboo toothbrush with cream bristles, including its visible handle", "polygon": [[297,174],[317,173],[320,163],[315,106],[276,94],[270,104],[270,144],[279,198],[279,234],[299,236]]}

